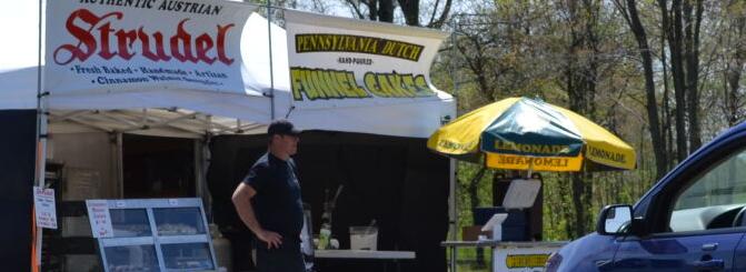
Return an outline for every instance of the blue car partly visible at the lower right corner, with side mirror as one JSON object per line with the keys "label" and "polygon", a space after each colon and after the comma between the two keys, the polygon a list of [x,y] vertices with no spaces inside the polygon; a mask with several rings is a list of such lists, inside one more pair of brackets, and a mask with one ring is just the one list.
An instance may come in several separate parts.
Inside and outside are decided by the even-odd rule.
{"label": "blue car partly visible at the lower right corner, with side mirror", "polygon": [[666,174],[634,206],[601,210],[596,232],[547,271],[745,271],[746,123]]}

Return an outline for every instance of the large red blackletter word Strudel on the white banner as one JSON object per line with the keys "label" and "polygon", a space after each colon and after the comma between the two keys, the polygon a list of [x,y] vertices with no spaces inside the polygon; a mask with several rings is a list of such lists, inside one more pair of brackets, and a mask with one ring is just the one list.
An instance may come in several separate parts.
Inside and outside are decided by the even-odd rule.
{"label": "large red blackletter word Strudel on the white banner", "polygon": [[[171,36],[167,43],[160,31],[149,34],[143,30],[143,27],[137,30],[117,29],[116,21],[122,19],[122,12],[110,12],[97,17],[87,9],[73,11],[68,17],[66,29],[77,39],[77,43],[62,44],[54,49],[54,63],[66,66],[73,60],[84,62],[95,53],[98,53],[105,60],[110,60],[117,56],[123,60],[130,60],[140,53],[151,61],[169,61],[173,58],[180,62],[212,64],[217,60],[227,66],[235,61],[233,58],[226,54],[226,36],[235,27],[233,23],[218,24],[215,37],[209,33],[195,36],[185,29],[189,19],[183,19],[178,23],[176,34]],[[79,21],[88,26],[76,24]],[[93,34],[93,29],[98,30],[98,38]],[[196,39],[192,40],[193,37]],[[116,46],[111,44],[113,42],[116,42]],[[136,50],[137,42],[141,44],[141,52]]]}

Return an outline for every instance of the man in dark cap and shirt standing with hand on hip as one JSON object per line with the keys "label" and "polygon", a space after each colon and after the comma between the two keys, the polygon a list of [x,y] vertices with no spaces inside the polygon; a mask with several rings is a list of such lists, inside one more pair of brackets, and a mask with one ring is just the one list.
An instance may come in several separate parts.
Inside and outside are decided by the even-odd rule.
{"label": "man in dark cap and shirt standing with hand on hip", "polygon": [[243,178],[232,201],[241,221],[256,234],[256,264],[260,272],[304,272],[300,231],[304,208],[296,165],[300,131],[286,120],[267,129],[268,151]]}

